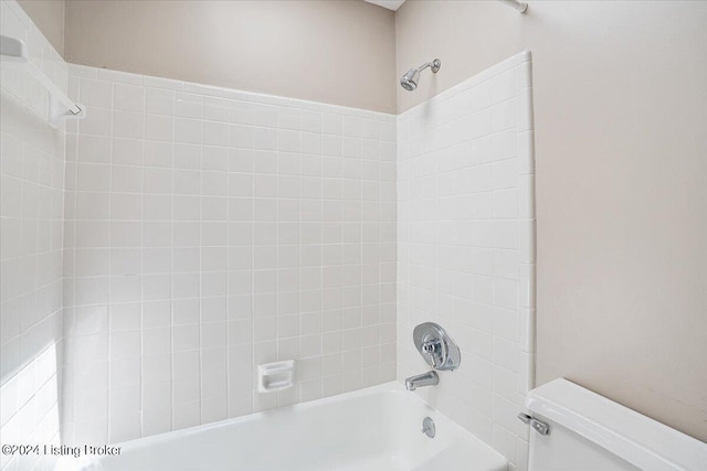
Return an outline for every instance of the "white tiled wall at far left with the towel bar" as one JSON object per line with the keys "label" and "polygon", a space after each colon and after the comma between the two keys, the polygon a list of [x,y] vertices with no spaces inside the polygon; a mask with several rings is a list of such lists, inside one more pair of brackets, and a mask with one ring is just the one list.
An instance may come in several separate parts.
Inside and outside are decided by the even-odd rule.
{"label": "white tiled wall at far left with the towel bar", "polygon": [[[61,56],[14,1],[0,33],[66,89]],[[48,94],[23,64],[0,67],[0,436],[59,443],[62,355],[63,130],[46,124]],[[43,470],[39,457],[0,457],[2,470]]]}

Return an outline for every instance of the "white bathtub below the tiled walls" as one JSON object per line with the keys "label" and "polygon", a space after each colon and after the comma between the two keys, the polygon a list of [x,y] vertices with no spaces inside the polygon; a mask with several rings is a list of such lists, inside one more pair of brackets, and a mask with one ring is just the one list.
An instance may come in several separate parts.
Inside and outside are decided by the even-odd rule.
{"label": "white bathtub below the tiled walls", "polygon": [[[422,433],[430,416],[436,436]],[[128,441],[81,471],[506,471],[506,460],[399,383]],[[64,465],[70,462],[64,462]]]}

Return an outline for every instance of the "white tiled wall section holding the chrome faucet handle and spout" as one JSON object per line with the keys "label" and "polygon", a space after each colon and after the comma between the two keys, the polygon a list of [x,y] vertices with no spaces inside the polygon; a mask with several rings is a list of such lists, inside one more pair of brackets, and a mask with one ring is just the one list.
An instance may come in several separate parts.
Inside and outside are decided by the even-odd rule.
{"label": "white tiled wall section holding the chrome faucet handle and spout", "polygon": [[413,328],[443,325],[461,367],[418,394],[513,469],[527,467],[516,415],[535,376],[531,97],[523,53],[398,121],[398,379],[429,370]]}

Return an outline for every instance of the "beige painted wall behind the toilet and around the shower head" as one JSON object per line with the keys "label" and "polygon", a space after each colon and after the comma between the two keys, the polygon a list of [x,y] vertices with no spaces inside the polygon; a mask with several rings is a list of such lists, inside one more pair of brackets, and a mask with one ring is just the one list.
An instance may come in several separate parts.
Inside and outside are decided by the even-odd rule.
{"label": "beige painted wall behind the toilet and around the shower head", "polygon": [[538,384],[707,441],[707,2],[529,3],[408,1],[398,109],[532,51]]}

